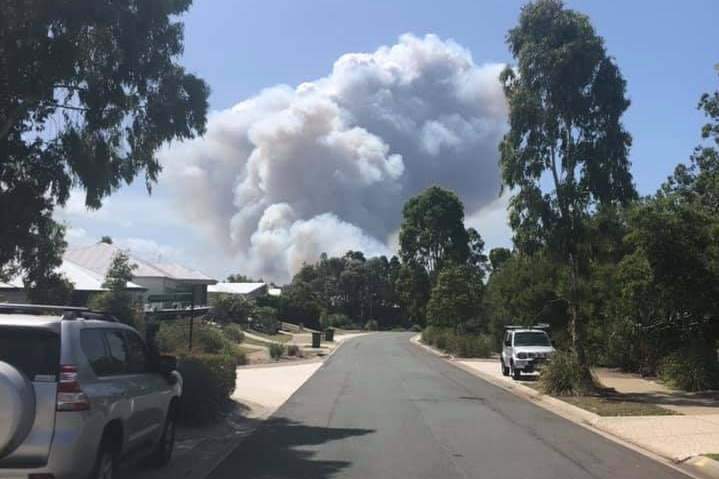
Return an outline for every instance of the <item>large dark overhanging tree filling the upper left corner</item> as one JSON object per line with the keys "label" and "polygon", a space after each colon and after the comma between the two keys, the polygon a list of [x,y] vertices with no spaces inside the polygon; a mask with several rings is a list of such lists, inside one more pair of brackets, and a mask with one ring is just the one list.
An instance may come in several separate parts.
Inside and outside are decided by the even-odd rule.
{"label": "large dark overhanging tree filling the upper left corner", "polygon": [[165,142],[202,133],[207,85],[177,63],[191,0],[22,0],[0,16],[0,276],[71,187],[90,208]]}

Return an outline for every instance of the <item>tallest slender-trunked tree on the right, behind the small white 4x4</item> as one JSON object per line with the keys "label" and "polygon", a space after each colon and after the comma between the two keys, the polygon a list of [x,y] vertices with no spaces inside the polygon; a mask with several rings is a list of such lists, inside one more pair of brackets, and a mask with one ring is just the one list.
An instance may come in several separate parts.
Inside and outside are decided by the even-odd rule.
{"label": "tallest slender-trunked tree on the right, behind the small white 4x4", "polygon": [[546,245],[568,268],[572,345],[586,365],[583,222],[598,204],[636,197],[621,123],[625,81],[589,19],[559,0],[524,6],[507,44],[517,67],[500,76],[510,129],[499,149],[504,185],[516,191],[510,223],[520,250]]}

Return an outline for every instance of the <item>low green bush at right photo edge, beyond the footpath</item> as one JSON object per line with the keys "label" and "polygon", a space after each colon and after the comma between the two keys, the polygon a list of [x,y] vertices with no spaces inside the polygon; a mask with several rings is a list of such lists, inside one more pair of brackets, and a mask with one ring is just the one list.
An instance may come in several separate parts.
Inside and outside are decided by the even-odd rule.
{"label": "low green bush at right photo edge, beyond the footpath", "polygon": [[719,366],[710,351],[679,351],[661,361],[659,378],[676,389],[705,391],[719,387]]}

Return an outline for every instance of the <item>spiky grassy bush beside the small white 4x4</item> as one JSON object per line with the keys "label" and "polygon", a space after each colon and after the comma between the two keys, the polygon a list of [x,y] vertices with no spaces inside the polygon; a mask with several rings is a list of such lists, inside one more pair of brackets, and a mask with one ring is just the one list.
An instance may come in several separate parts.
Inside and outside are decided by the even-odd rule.
{"label": "spiky grassy bush beside the small white 4x4", "polygon": [[544,392],[556,396],[578,396],[595,389],[591,373],[571,351],[556,351],[541,369],[540,381]]}

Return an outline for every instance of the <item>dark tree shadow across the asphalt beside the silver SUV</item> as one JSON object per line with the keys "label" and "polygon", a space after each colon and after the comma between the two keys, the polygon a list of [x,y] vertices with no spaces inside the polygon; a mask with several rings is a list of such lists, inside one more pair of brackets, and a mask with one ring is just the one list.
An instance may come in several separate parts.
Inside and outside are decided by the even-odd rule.
{"label": "dark tree shadow across the asphalt beside the silver SUV", "polygon": [[209,479],[323,479],[350,465],[349,461],[315,459],[308,447],[374,432],[307,426],[271,418],[244,441]]}

